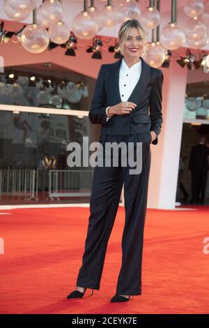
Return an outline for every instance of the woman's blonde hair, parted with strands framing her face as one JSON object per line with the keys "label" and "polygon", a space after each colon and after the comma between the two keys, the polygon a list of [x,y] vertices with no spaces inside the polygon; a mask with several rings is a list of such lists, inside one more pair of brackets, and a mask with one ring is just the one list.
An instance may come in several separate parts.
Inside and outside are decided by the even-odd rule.
{"label": "woman's blonde hair, parted with strands framing her face", "polygon": [[121,54],[123,55],[123,45],[127,39],[128,33],[132,27],[135,27],[136,29],[138,29],[138,31],[141,35],[141,38],[142,38],[142,42],[143,42],[143,54],[146,55],[146,47],[147,47],[146,31],[141,26],[141,23],[139,22],[139,20],[127,20],[126,22],[124,22],[121,25],[121,27],[118,31],[118,38],[119,38]]}

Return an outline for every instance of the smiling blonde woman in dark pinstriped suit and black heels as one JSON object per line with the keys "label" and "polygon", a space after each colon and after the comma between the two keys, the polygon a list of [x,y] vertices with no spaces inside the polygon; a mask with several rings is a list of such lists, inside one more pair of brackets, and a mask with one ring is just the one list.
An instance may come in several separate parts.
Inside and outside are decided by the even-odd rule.
{"label": "smiling blonde woman in dark pinstriped suit and black heels", "polygon": [[[93,124],[101,124],[100,143],[141,143],[142,170],[130,174],[124,167],[96,166],[90,200],[88,232],[77,288],[67,298],[83,297],[86,288],[100,289],[111,230],[114,225],[124,183],[125,226],[123,258],[114,301],[128,301],[141,295],[141,262],[146,217],[150,143],[157,144],[162,126],[162,71],[149,66],[140,54],[146,53],[146,33],[137,20],[127,20],[118,32],[121,54],[114,64],[100,68],[89,112]],[[149,107],[149,113],[148,113]],[[107,154],[105,152],[103,154]],[[109,155],[111,159],[114,155]],[[120,157],[120,161],[122,160]],[[121,162],[120,162],[121,163]]]}

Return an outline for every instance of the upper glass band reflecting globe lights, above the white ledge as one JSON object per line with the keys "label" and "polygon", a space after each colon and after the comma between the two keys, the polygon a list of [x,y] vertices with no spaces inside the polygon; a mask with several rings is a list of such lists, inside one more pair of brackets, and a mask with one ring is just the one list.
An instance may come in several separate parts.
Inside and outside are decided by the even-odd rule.
{"label": "upper glass band reflecting globe lights, above the white ledge", "polygon": [[[51,64],[52,65],[52,64]],[[88,110],[95,80],[61,66],[7,67],[0,73],[0,104]]]}

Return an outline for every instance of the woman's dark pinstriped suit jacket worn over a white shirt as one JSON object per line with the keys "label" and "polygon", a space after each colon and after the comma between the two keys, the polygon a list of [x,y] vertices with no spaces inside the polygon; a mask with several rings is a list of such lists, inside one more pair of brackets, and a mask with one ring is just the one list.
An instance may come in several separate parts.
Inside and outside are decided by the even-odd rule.
{"label": "woman's dark pinstriped suit jacket worn over a white shirt", "polygon": [[[162,126],[162,70],[153,68],[141,59],[141,75],[127,101],[137,104],[130,114],[114,114],[107,121],[106,107],[121,103],[119,71],[123,58],[114,64],[102,64],[91,101],[88,117],[93,124],[101,124],[101,134],[130,135],[155,131]],[[157,144],[156,137],[153,144]]]}

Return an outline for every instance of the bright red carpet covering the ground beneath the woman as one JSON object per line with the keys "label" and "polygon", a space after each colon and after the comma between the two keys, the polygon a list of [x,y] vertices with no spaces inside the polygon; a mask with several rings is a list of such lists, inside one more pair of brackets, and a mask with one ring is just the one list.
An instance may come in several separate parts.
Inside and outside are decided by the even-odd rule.
{"label": "bright red carpet covering the ground beneath the woman", "polygon": [[[195,208],[195,207],[193,207]],[[111,304],[121,267],[124,209],[109,239],[101,288],[66,299],[82,264],[89,208],[1,211],[0,313],[208,313],[209,207],[148,209],[143,294]]]}

